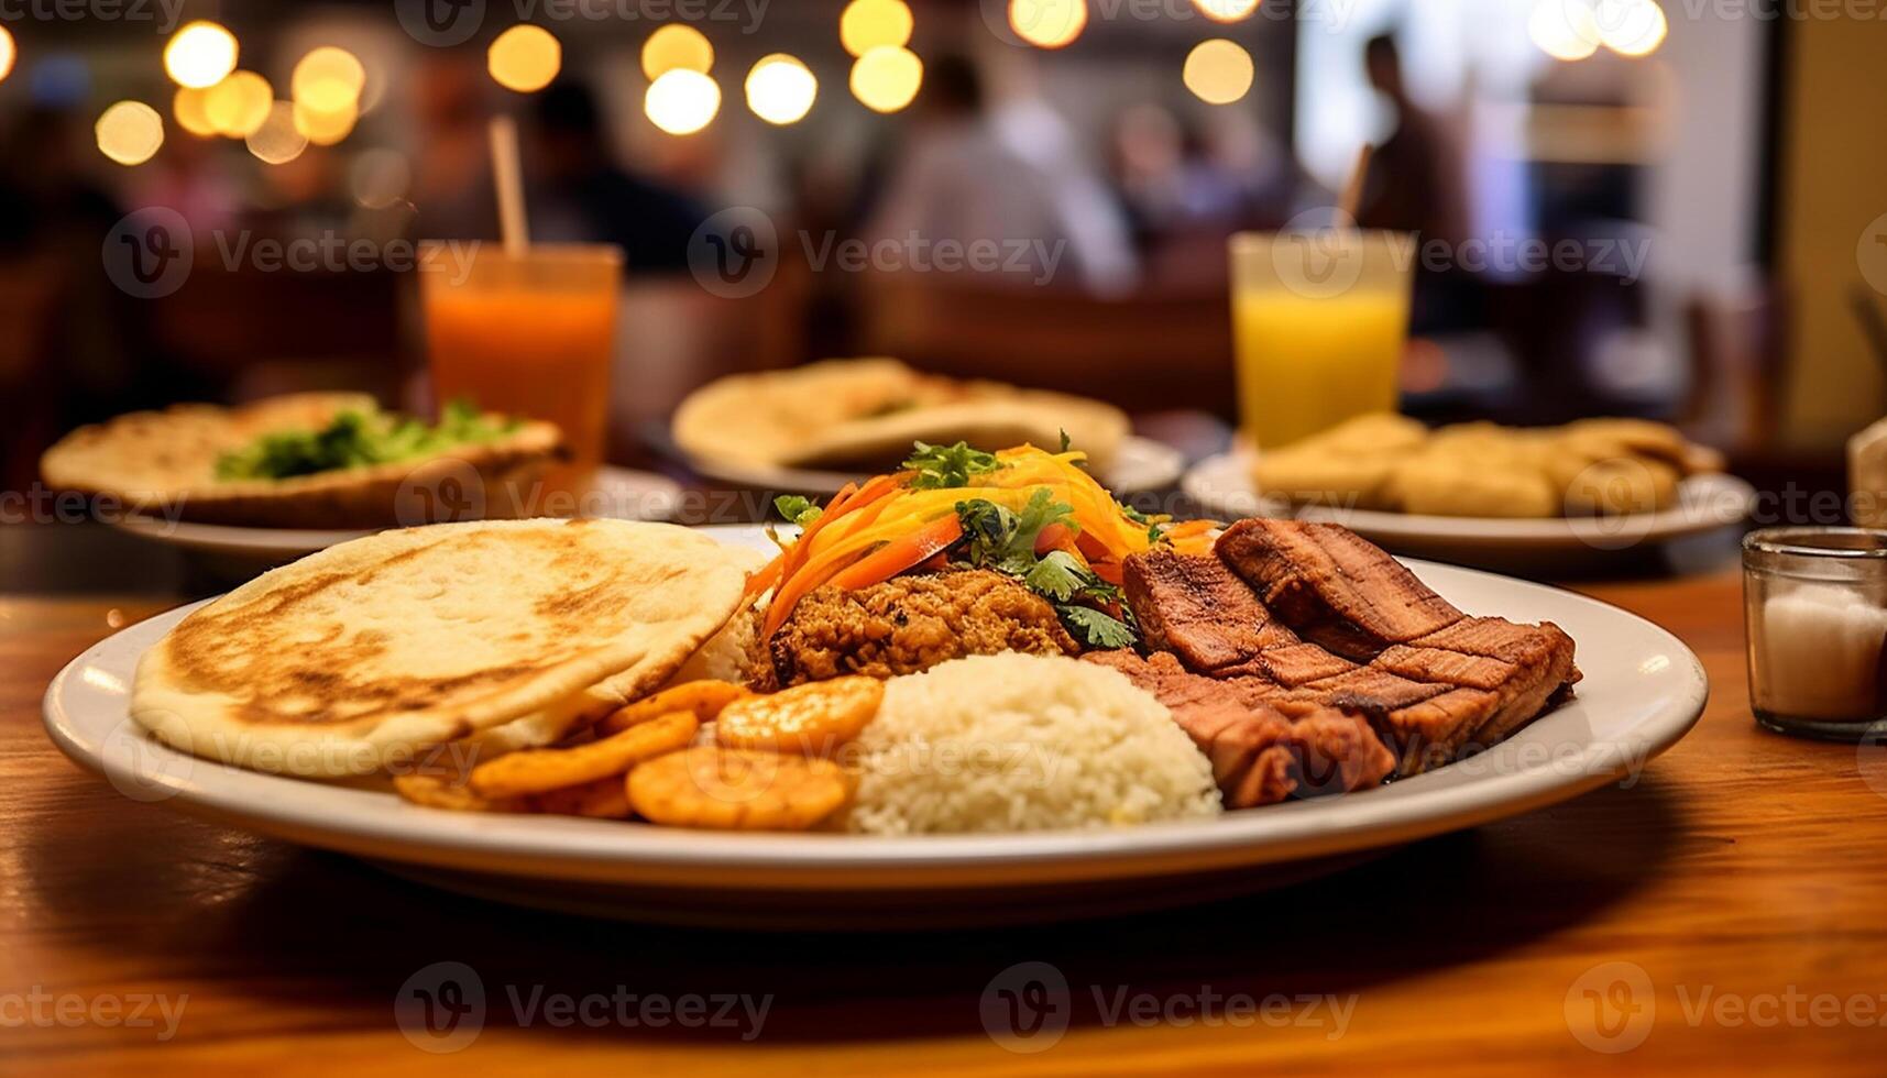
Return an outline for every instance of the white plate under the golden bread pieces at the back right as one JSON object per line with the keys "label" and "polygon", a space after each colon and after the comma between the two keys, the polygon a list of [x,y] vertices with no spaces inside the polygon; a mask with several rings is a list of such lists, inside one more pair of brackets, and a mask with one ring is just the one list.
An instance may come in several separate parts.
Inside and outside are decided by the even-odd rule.
{"label": "white plate under the golden bread pieces at the back right", "polygon": [[[1194,464],[1181,489],[1210,515],[1293,515],[1279,500],[1266,498],[1251,481],[1251,457],[1219,453]],[[1330,521],[1396,551],[1444,559],[1478,559],[1515,553],[1602,553],[1642,544],[1661,544],[1721,527],[1738,525],[1755,508],[1755,487],[1736,476],[1693,476],[1678,487],[1678,504],[1657,514],[1628,517],[1498,519],[1383,514],[1374,510],[1300,508],[1302,519]]]}

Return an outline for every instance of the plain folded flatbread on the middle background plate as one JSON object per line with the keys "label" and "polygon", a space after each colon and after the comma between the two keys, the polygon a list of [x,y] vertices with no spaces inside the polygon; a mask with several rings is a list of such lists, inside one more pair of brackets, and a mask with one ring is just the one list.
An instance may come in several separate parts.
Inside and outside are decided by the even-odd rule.
{"label": "plain folded flatbread on the middle background plate", "polygon": [[996,381],[921,374],[894,359],[828,359],[713,381],[676,410],[676,444],[702,461],[887,470],[911,442],[1072,447],[1106,466],[1128,434],[1119,408]]}

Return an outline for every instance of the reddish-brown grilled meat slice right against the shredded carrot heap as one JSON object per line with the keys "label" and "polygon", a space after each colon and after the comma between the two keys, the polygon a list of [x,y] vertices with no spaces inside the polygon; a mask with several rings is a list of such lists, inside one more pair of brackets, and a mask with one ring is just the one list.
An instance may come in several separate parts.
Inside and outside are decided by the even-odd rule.
{"label": "reddish-brown grilled meat slice right against the shredded carrot heap", "polygon": [[1249,663],[1266,648],[1298,642],[1217,557],[1136,553],[1123,583],[1147,646],[1177,653],[1193,670]]}

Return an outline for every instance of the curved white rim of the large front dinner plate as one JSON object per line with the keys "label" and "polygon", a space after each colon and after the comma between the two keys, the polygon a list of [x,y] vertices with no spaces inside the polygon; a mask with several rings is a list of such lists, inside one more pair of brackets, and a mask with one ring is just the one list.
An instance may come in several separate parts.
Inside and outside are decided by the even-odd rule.
{"label": "curved white rim of the large front dinner plate", "polygon": [[[749,532],[749,527],[723,525],[710,532]],[[1042,831],[1004,834],[725,834],[662,829],[621,821],[574,817],[489,817],[445,814],[400,802],[391,791],[355,789],[289,776],[270,776],[189,757],[151,742],[140,731],[145,751],[138,761],[179,757],[185,774],[140,768],[111,759],[104,740],[91,736],[92,725],[130,725],[128,714],[96,723],[79,723],[68,714],[68,685],[108,648],[132,646],[126,636],[155,642],[177,619],[211,598],[185,604],[130,625],[100,640],[72,659],[47,685],[42,719],[55,746],[79,766],[104,774],[113,785],[159,785],[170,806],[208,816],[234,827],[287,838],[306,846],[353,855],[396,859],[411,865],[476,868],[519,876],[542,872],[564,880],[596,880],[651,887],[764,885],[781,889],[879,889],[938,891],[979,885],[1025,885],[1068,880],[1125,880],[1181,874],[1194,868],[1259,867],[1336,853],[1398,846],[1415,838],[1474,827],[1545,804],[1578,797],[1642,766],[1681,740],[1702,717],[1710,699],[1710,680],[1698,657],[1670,631],[1613,604],[1513,580],[1493,572],[1442,563],[1406,559],[1419,574],[1442,578],[1476,576],[1502,587],[1544,591],[1557,600],[1589,606],[1608,617],[1623,617],[1653,634],[1676,661],[1678,682],[1655,708],[1611,740],[1589,733],[1574,753],[1574,768],[1553,774],[1555,763],[1481,778],[1447,778],[1455,768],[1440,768],[1400,780],[1385,789],[1396,793],[1394,816],[1381,816],[1366,800],[1317,799],[1245,810],[1198,821],[1147,823],[1113,831]],[[149,644],[138,644],[138,657]],[[132,657],[128,666],[136,666]],[[1549,716],[1551,717],[1551,716]],[[1511,757],[1525,738],[1510,738],[1481,753]],[[1610,750],[1610,751],[1608,751]],[[1472,763],[1472,761],[1470,761]],[[1498,763],[1498,761],[1495,761]],[[1561,761],[1564,763],[1564,761]],[[204,783],[198,770],[215,776]],[[274,783],[291,782],[304,789],[325,789],[349,799],[332,802],[268,797]],[[123,785],[119,785],[123,789]],[[259,797],[247,797],[257,791]],[[353,799],[376,800],[353,800]],[[159,800],[159,799],[149,799]],[[1362,808],[1355,808],[1362,804]],[[415,816],[423,814],[423,816]],[[625,833],[625,827],[634,833]],[[494,867],[494,863],[498,867]]]}

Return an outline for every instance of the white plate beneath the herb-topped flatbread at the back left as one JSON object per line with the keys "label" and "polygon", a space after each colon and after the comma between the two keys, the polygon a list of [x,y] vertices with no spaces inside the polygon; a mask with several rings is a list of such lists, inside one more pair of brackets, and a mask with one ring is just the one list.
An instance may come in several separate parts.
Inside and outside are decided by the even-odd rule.
{"label": "white plate beneath the herb-topped flatbread at the back left", "polygon": [[[583,500],[583,512],[625,521],[666,521],[676,514],[679,500],[681,485],[668,476],[606,466],[596,474],[596,489]],[[113,517],[109,523],[191,553],[262,564],[281,564],[372,534],[364,531],[200,525],[143,515]]]}

